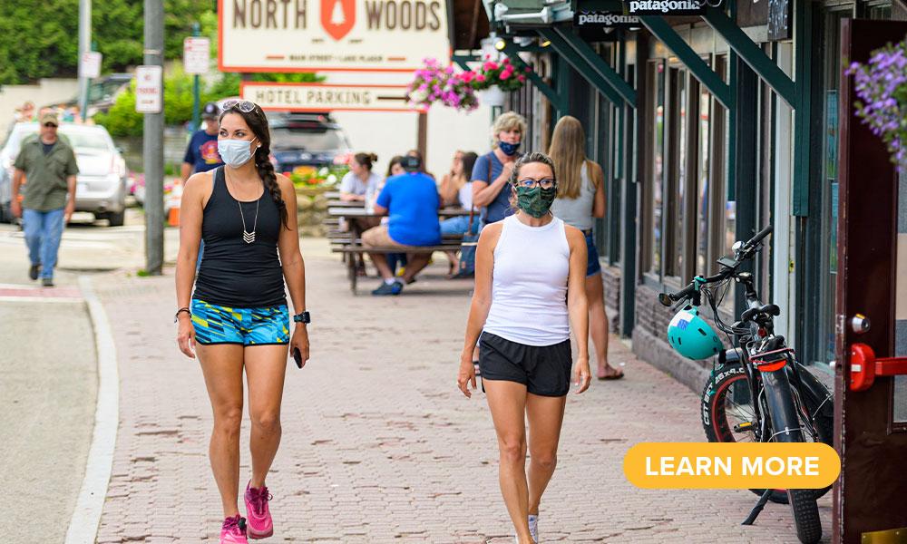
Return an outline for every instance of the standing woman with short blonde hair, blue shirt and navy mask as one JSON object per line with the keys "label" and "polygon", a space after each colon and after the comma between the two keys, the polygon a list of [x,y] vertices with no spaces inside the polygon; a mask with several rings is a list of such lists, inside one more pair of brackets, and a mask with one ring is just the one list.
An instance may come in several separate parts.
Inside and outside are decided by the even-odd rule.
{"label": "standing woman with short blonde hair, blue shirt and navy mask", "polygon": [[526,135],[526,120],[505,112],[492,125],[492,151],[479,157],[473,166],[473,206],[482,209],[479,228],[513,214],[508,187],[513,164],[520,158],[520,144]]}

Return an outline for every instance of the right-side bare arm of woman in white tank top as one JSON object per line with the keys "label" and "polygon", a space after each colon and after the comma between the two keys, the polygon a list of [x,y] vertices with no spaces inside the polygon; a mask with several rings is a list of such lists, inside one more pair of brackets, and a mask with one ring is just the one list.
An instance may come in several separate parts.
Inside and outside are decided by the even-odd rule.
{"label": "right-side bare arm of woman in white tank top", "polygon": [[573,380],[577,393],[589,389],[592,374],[589,370],[589,301],[586,299],[586,237],[578,228],[564,227],[570,245],[570,275],[567,278],[567,311],[570,314],[573,336],[576,337],[577,358]]}

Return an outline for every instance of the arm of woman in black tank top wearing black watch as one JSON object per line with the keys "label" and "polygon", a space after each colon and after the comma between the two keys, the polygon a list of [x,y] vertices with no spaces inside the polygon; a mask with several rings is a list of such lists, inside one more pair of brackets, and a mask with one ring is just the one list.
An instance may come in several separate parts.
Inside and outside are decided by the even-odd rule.
{"label": "arm of woman in black tank top wearing black watch", "polygon": [[[287,205],[287,226],[280,227],[278,254],[283,267],[284,280],[287,282],[290,300],[293,302],[293,314],[306,311],[306,263],[299,251],[299,230],[296,215],[296,191],[293,182],[286,176],[277,174],[280,195]],[[308,360],[308,331],[305,323],[294,323],[290,348],[298,348],[302,361]]]}

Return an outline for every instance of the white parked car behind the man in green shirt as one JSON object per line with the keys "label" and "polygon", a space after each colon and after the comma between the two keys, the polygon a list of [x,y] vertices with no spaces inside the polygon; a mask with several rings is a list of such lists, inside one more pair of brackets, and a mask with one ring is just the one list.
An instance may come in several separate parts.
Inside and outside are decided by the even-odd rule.
{"label": "white parked car behind the man in green shirt", "polygon": [[[75,210],[89,211],[96,219],[107,219],[120,227],[126,215],[126,162],[113,144],[107,129],[100,125],[62,123],[60,138],[75,151],[79,165],[76,176]],[[0,149],[0,220],[9,222],[13,164],[22,142],[38,137],[38,123],[18,122]],[[28,180],[25,180],[27,188]]]}

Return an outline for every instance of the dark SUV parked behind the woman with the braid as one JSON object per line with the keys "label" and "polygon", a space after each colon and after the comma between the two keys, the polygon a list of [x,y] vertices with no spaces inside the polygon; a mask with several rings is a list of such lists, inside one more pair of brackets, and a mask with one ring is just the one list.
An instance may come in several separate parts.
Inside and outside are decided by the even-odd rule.
{"label": "dark SUV parked behind the woman with the braid", "polygon": [[274,168],[289,174],[310,173],[352,151],[346,133],[327,112],[268,113]]}

